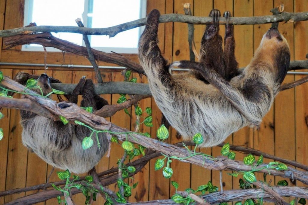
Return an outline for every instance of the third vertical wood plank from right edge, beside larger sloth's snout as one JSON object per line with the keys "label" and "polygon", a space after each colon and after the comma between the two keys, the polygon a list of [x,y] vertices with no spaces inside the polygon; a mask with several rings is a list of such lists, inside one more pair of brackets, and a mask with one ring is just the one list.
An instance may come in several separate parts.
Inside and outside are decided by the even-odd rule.
{"label": "third vertical wood plank from right edge, beside larger sloth's snout", "polygon": [[[254,1],[253,14],[254,16],[270,15],[269,10],[273,8],[273,1]],[[263,34],[270,28],[270,24],[254,25],[253,26],[253,48],[256,50],[261,42]],[[253,139],[254,148],[274,155],[274,106],[265,115],[260,125],[259,130],[254,131]],[[265,163],[273,160],[264,159]],[[256,173],[259,180],[263,179],[263,174]],[[267,176],[267,182],[274,177]]]}

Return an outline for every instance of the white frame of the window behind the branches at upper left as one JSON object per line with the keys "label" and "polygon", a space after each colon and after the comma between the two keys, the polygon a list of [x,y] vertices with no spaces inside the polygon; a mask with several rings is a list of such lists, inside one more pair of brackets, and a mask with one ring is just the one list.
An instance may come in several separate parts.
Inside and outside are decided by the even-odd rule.
{"label": "white frame of the window behind the branches at upper left", "polygon": [[[89,1],[93,0],[84,0],[84,10],[82,14],[83,18],[83,25],[87,27],[88,24],[88,5]],[[146,2],[147,0],[140,0],[140,18],[146,17]],[[24,26],[29,25],[32,21],[32,12],[33,12],[33,0],[25,0],[25,11],[24,11]],[[29,15],[30,14],[30,15]],[[139,27],[139,37],[142,34],[145,26]],[[91,35],[88,35],[89,41],[91,43]],[[82,40],[82,46],[85,46],[84,41]],[[124,54],[136,54],[138,53],[138,48],[119,48],[119,47],[91,47],[95,50],[100,50],[103,52],[111,53],[124,53]],[[46,50],[49,52],[60,52],[61,50],[53,48],[53,47],[46,47]],[[44,51],[43,46],[30,46],[30,45],[22,45],[22,51]]]}

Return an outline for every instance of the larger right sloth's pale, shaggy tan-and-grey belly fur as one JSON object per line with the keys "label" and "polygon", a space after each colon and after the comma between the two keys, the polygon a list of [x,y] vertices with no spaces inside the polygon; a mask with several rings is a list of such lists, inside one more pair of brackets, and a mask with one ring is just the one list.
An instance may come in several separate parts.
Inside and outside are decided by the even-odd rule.
{"label": "larger right sloth's pale, shaggy tan-and-grey belly fur", "polygon": [[[187,76],[185,76],[187,77]],[[167,90],[150,82],[152,95],[168,122],[185,141],[200,132],[202,147],[215,146],[248,122],[212,85],[197,79],[175,78]]]}

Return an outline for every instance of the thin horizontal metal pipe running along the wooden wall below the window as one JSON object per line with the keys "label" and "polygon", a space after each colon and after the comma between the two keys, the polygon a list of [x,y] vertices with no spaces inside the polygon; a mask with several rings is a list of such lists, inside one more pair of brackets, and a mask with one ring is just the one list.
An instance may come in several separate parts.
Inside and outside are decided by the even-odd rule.
{"label": "thin horizontal metal pipe running along the wooden wall below the window", "polygon": [[[0,62],[0,65],[6,66],[36,66],[36,67],[44,67],[43,63],[14,63],[14,62]],[[47,64],[50,67],[63,67],[63,68],[93,68],[93,66],[85,66],[85,65],[73,65],[73,64]],[[101,69],[126,69],[123,66],[99,66]],[[188,68],[172,68],[172,70],[177,71],[188,71]],[[297,71],[288,71],[287,74],[297,74],[297,75],[308,75],[308,72],[297,72]]]}

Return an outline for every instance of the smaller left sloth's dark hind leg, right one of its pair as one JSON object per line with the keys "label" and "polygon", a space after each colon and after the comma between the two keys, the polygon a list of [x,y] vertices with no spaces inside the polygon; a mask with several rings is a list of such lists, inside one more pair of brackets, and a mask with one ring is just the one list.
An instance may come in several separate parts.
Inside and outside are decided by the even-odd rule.
{"label": "smaller left sloth's dark hind leg, right one of its pair", "polygon": [[93,110],[99,110],[103,106],[108,105],[107,100],[95,94],[93,81],[87,79],[82,89],[81,107],[93,107]]}

